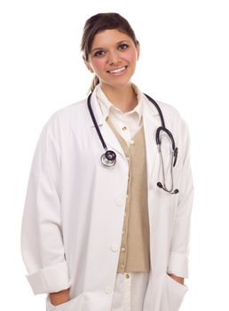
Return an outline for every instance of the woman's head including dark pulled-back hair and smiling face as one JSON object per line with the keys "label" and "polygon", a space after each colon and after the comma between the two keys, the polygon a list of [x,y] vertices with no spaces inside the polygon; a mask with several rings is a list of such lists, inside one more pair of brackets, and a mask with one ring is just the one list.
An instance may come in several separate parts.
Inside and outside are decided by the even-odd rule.
{"label": "woman's head including dark pulled-back hair and smiling face", "polygon": [[[139,43],[129,22],[119,14],[100,13],[87,20],[82,51],[87,68],[95,74],[91,91],[99,83],[103,88],[130,86],[139,57]],[[123,76],[123,79],[114,80],[114,76]]]}

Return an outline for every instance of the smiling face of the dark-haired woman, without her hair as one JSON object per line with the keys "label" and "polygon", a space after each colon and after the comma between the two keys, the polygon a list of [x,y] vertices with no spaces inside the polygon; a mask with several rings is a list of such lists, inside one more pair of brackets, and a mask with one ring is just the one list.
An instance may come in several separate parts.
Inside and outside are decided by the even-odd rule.
{"label": "smiling face of the dark-haired woman, without her hair", "polygon": [[139,57],[130,36],[117,29],[107,29],[94,37],[86,66],[99,76],[103,86],[120,87],[130,83]]}

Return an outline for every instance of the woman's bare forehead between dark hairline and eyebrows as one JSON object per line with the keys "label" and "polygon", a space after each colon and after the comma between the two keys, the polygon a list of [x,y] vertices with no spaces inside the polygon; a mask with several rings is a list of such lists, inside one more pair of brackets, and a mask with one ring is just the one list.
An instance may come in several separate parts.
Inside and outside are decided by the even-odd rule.
{"label": "woman's bare forehead between dark hairline and eyebrows", "polygon": [[107,47],[109,45],[117,44],[121,41],[132,41],[130,36],[123,34],[117,29],[107,29],[99,32],[94,36],[94,40],[91,48],[95,49],[97,47]]}

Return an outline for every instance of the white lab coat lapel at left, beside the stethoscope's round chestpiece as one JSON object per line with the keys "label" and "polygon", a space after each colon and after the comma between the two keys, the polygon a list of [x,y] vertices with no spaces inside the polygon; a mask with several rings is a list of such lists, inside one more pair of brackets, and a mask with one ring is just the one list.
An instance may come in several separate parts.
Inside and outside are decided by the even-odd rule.
{"label": "white lab coat lapel at left, beside the stethoscope's round chestpiece", "polygon": [[[93,92],[91,95],[91,108],[95,115],[97,124],[99,125],[99,131],[101,132],[102,137],[107,145],[107,149],[114,150],[114,152],[118,152],[120,155],[125,156],[119,141],[114,135],[114,132],[107,124],[104,116],[102,115],[101,109],[99,108],[98,100],[96,98],[96,92]],[[93,131],[96,132],[96,128],[92,122],[92,119],[91,119],[91,127],[93,128]]]}

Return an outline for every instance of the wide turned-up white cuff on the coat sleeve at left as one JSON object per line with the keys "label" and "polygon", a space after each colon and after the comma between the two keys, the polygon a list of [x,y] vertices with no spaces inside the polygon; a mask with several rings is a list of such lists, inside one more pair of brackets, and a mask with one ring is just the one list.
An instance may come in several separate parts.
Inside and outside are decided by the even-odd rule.
{"label": "wide turned-up white cuff on the coat sleeve at left", "polygon": [[26,276],[35,295],[63,291],[71,285],[68,276],[67,262],[45,267]]}

